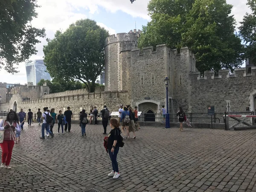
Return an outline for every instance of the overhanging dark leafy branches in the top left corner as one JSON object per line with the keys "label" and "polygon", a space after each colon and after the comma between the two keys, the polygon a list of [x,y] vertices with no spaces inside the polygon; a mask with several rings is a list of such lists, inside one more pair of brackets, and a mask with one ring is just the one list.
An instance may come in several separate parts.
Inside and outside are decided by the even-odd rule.
{"label": "overhanging dark leafy branches in the top left corner", "polygon": [[36,0],[0,0],[0,65],[9,73],[17,73],[14,64],[35,54],[38,37],[45,37],[45,29],[29,23],[37,7]]}

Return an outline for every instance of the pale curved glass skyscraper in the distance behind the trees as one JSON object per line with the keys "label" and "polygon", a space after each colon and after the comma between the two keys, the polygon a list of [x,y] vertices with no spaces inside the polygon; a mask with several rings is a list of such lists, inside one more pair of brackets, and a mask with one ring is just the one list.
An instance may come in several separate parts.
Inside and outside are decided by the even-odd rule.
{"label": "pale curved glass skyscraper in the distance behind the trees", "polygon": [[26,62],[27,81],[37,85],[41,79],[51,80],[50,74],[45,72],[44,60],[33,60]]}

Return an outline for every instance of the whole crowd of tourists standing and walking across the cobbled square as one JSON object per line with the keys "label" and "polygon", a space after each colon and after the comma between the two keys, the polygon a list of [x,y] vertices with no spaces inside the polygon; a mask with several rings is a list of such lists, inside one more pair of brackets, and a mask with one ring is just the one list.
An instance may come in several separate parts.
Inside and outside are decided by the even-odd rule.
{"label": "whole crowd of tourists standing and walking across the cobbled square", "polygon": [[[44,107],[44,112],[41,112],[41,109],[38,109],[37,121],[38,125],[41,124],[41,134],[42,136],[40,139],[45,139],[45,134],[47,137],[51,136],[54,137],[53,128],[55,124],[58,124],[58,134],[61,133],[65,134],[67,131],[70,132],[71,130],[71,120],[73,118],[73,113],[70,110],[70,107],[67,107],[67,111],[62,113],[62,111],[58,111],[58,115],[55,113],[55,109],[52,108],[49,110],[47,107]],[[162,106],[162,113],[163,113],[163,121],[165,121],[165,109]],[[110,120],[110,127],[111,131],[107,137],[104,138],[104,146],[106,151],[109,153],[109,157],[112,162],[112,172],[108,174],[108,176],[113,176],[113,179],[119,177],[119,168],[117,163],[117,154],[119,152],[119,147],[124,145],[123,140],[130,138],[130,132],[133,133],[133,138],[136,138],[135,131],[140,129],[140,124],[138,120],[138,111],[137,107],[134,109],[130,105],[120,105],[119,108],[119,118],[114,119],[111,118],[111,113],[108,110],[107,106],[104,105],[103,109],[98,112],[97,107],[93,107],[90,109],[89,113],[89,121],[87,119],[87,113],[83,109],[79,113],[79,125],[81,127],[81,137],[86,136],[85,127],[87,124],[92,124],[94,120],[94,125],[97,124],[97,118],[99,116],[102,117],[102,126],[104,129],[103,134],[107,134],[107,126],[108,121]],[[186,114],[183,109],[180,107],[179,111],[177,112],[177,116],[180,122],[180,131],[183,131],[182,122],[186,119]],[[12,149],[16,143],[20,141],[20,132],[23,130],[24,122],[26,121],[26,113],[23,109],[20,109],[19,113],[10,110],[7,114],[5,120],[0,122],[0,146],[2,148],[2,163],[0,168],[11,169],[10,161],[12,157]],[[33,113],[31,109],[27,114],[27,122],[28,126],[31,126],[31,123],[34,122]],[[121,130],[119,126],[121,125]],[[64,127],[65,126],[65,127]],[[46,132],[45,132],[46,131]],[[121,134],[124,134],[122,137]]]}

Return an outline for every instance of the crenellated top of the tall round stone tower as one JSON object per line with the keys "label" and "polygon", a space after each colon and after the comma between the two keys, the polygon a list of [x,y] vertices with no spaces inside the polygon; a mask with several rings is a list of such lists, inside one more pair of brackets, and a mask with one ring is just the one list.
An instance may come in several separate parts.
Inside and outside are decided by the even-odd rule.
{"label": "crenellated top of the tall round stone tower", "polygon": [[105,40],[105,46],[112,43],[122,42],[122,41],[135,41],[137,44],[138,38],[140,37],[141,31],[137,31],[134,29],[134,31],[130,31],[128,33],[117,33],[116,35],[110,35]]}

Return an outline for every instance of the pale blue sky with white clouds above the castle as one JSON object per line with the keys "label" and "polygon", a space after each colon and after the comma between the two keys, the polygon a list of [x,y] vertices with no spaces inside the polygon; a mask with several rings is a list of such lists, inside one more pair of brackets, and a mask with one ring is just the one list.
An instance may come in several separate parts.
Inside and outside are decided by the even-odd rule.
{"label": "pale blue sky with white clouds above the castle", "polygon": [[[93,19],[99,26],[107,29],[111,34],[129,32],[131,29],[142,29],[150,20],[147,12],[149,0],[136,0],[131,4],[130,0],[38,0],[38,17],[31,22],[32,26],[46,29],[46,38],[52,39],[57,30],[65,31],[76,20]],[[246,5],[247,0],[227,0],[233,5],[237,26],[242,21],[246,12],[250,9]],[[41,43],[36,45],[38,50],[32,59],[42,59],[43,47],[47,44],[46,38],[40,38]],[[0,70],[0,82],[9,84],[26,84],[25,62],[18,66],[19,73],[14,75]]]}

